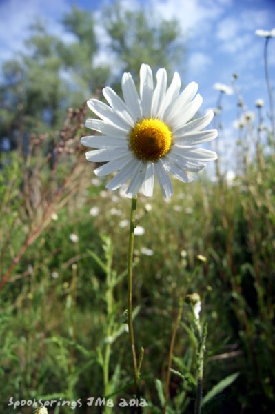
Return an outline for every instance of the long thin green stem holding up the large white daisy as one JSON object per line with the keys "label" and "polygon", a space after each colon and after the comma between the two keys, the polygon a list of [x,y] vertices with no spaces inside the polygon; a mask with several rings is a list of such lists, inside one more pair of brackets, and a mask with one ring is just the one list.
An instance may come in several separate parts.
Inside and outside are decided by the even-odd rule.
{"label": "long thin green stem holding up the large white daisy", "polygon": [[136,346],[134,344],[134,327],[132,320],[132,290],[133,290],[133,253],[134,253],[134,228],[136,225],[136,202],[137,197],[132,199],[131,214],[130,214],[130,228],[129,228],[129,243],[128,243],[128,259],[127,259],[127,281],[128,281],[128,327],[129,338],[134,364],[134,384],[136,386],[136,393],[139,394],[139,368],[136,360]]}

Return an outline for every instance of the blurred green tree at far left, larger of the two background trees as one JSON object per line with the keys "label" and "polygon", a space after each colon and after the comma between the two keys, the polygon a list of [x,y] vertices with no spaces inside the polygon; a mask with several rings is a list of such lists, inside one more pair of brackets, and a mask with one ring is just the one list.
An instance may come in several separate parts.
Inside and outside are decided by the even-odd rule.
{"label": "blurred green tree at far left, larger of the two background trees", "polygon": [[37,21],[26,41],[28,51],[3,64],[0,133],[13,146],[26,131],[60,128],[67,108],[81,106],[109,77],[108,66],[94,64],[99,46],[92,14],[72,8],[63,26],[72,34],[70,43]]}

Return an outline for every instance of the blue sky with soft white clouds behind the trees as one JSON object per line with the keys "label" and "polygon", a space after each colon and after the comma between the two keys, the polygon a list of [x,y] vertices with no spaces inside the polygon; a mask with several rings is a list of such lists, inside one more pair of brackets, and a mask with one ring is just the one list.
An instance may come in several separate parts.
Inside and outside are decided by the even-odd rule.
{"label": "blue sky with soft white clouds behind the trees", "polygon": [[[77,5],[95,12],[97,30],[104,45],[105,34],[100,26],[103,5],[112,0],[0,0],[0,63],[23,48],[28,26],[36,17],[47,21],[48,29],[70,41],[59,23],[64,12]],[[267,102],[263,66],[265,39],[256,37],[256,29],[275,27],[274,0],[123,0],[125,7],[143,6],[164,19],[179,20],[187,53],[182,72],[185,83],[196,81],[203,96],[203,110],[215,106],[215,82],[230,84],[232,74],[238,73],[238,86],[247,110],[254,110],[254,101]],[[275,86],[275,38],[269,42],[269,68]],[[109,59],[101,50],[99,60]],[[175,68],[176,69],[176,68]],[[236,96],[224,97],[223,120],[227,122],[225,135],[230,135],[236,119]]]}

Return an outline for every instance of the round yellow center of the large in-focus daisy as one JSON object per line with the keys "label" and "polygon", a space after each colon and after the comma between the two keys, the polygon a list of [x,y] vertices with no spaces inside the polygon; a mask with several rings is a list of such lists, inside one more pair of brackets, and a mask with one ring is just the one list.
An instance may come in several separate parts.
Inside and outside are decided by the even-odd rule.
{"label": "round yellow center of the large in-focus daisy", "polygon": [[137,122],[129,135],[129,148],[143,161],[157,161],[170,151],[172,132],[159,119]]}

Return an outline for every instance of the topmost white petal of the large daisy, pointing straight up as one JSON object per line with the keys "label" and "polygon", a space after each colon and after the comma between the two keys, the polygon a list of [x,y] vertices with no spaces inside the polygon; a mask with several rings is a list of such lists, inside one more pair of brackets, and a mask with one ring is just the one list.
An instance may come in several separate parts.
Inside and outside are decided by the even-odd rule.
{"label": "topmost white petal of the large daisy, pointing straight up", "polygon": [[145,65],[144,63],[141,65],[140,78],[141,78],[140,94],[141,94],[142,115],[143,117],[150,117],[153,88],[154,88],[153,75],[152,75],[152,70],[150,66]]}

